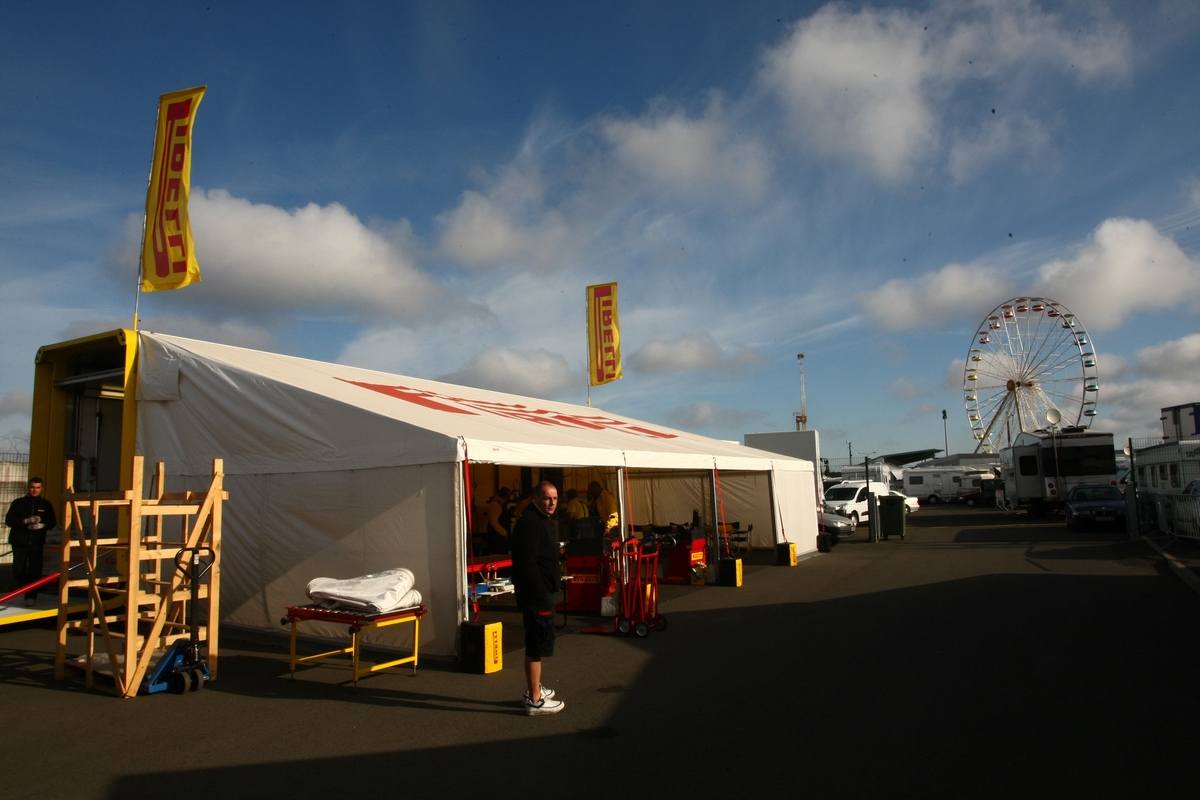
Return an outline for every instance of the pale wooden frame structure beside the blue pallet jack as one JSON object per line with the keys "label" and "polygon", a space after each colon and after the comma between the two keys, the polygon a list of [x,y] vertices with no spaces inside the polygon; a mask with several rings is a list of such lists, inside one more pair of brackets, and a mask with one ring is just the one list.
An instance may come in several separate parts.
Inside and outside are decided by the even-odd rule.
{"label": "pale wooden frame structure beside the blue pallet jack", "polygon": [[[97,674],[107,675],[119,697],[133,697],[156,656],[174,642],[188,638],[190,620],[198,620],[205,660],[216,678],[221,509],[229,499],[223,481],[223,459],[215,458],[206,492],[167,492],[166,473],[158,462],[150,497],[143,498],[143,458],[136,456],[130,489],[77,492],[74,462],[67,461],[55,678],[66,679],[68,669],[82,670],[90,688]],[[116,510],[115,536],[101,534],[101,511],[106,509]],[[191,585],[176,570],[176,559],[181,552],[194,553],[196,548],[211,553],[208,558],[212,566],[206,583],[198,588],[200,607],[190,609]],[[102,563],[109,552],[118,557],[115,571],[106,570]],[[76,566],[84,575],[78,577],[70,571],[73,555],[82,557],[82,564]],[[83,619],[68,619],[72,589],[88,590]],[[67,633],[72,630],[86,637],[82,656],[67,654]]]}

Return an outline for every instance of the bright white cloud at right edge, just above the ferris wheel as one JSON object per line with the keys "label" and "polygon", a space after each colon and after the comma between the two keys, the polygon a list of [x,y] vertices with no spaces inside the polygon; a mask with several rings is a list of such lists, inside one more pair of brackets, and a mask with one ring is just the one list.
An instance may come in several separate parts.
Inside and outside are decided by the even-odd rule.
{"label": "bright white cloud at right edge, just above the ferris wheel", "polygon": [[1144,219],[1106,219],[1070,259],[1042,266],[1033,293],[1060,300],[1094,330],[1139,311],[1200,297],[1200,260]]}

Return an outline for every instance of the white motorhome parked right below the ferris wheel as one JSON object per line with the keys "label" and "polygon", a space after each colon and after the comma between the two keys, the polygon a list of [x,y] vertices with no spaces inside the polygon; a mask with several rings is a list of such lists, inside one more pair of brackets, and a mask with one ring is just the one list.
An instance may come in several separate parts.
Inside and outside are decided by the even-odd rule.
{"label": "white motorhome parked right below the ferris wheel", "polygon": [[1111,433],[1080,428],[1025,432],[1000,451],[1004,504],[1042,510],[1062,505],[1076,486],[1117,485]]}

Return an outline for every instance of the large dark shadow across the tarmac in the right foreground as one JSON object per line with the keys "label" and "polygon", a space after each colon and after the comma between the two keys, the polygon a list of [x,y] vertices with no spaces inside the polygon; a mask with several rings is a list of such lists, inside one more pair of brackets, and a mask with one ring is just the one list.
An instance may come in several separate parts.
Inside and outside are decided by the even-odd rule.
{"label": "large dark shadow across the tarmac in the right foreground", "polygon": [[577,727],[584,715],[572,721],[570,705],[588,697],[566,684],[559,716],[515,721],[504,740],[430,747],[430,711],[488,726],[512,706],[371,690],[347,699],[338,687],[342,714],[362,702],[408,711],[406,740],[362,730],[366,752],[328,757],[313,729],[284,760],[150,768],[107,796],[1176,792],[1193,784],[1178,769],[1193,741],[1171,732],[1192,729],[1200,710],[1194,692],[1159,693],[1164,669],[1200,663],[1200,612],[1180,591],[1156,576],[986,575],[679,613],[661,636],[623,640],[650,660],[636,681],[593,690],[620,697],[602,724]]}

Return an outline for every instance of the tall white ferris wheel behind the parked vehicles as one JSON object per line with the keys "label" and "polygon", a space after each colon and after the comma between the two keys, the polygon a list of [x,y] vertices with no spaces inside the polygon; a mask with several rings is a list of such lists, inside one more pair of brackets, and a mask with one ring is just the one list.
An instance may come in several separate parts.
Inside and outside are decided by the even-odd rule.
{"label": "tall white ferris wheel behind the parked vehicles", "polygon": [[1015,297],[979,324],[962,393],[976,452],[998,452],[1022,431],[1060,422],[1086,428],[1099,393],[1096,349],[1061,302]]}

